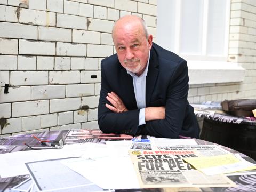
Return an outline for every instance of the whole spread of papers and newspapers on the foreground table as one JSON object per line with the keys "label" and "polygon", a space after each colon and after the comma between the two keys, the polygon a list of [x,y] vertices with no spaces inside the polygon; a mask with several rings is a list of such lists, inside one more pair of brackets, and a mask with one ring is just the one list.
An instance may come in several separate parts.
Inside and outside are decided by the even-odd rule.
{"label": "whole spread of papers and newspapers on the foreground table", "polygon": [[222,173],[255,166],[217,145],[197,145],[193,139],[104,142],[0,154],[0,175],[29,174],[12,189],[30,191],[235,187],[232,178]]}

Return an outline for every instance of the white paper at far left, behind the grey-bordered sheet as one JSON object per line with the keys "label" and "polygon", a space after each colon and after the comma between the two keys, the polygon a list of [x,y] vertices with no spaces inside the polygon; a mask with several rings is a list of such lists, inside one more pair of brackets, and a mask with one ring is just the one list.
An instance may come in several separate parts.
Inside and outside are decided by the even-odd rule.
{"label": "white paper at far left, behind the grey-bordered sheet", "polygon": [[[100,150],[102,149],[102,150]],[[65,145],[62,149],[43,149],[30,151],[17,151],[0,154],[0,175],[2,178],[29,174],[25,163],[66,158],[66,157],[93,157],[107,156],[107,146],[98,143],[79,143]],[[97,150],[101,152],[98,153]],[[17,158],[18,157],[18,158]]]}

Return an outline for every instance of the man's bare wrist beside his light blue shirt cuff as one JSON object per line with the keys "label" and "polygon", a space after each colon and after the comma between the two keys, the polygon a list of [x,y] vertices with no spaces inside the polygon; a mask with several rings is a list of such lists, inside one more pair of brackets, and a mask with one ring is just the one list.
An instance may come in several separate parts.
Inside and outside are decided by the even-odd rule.
{"label": "man's bare wrist beside his light blue shirt cuff", "polygon": [[145,121],[159,120],[165,118],[165,107],[146,107]]}

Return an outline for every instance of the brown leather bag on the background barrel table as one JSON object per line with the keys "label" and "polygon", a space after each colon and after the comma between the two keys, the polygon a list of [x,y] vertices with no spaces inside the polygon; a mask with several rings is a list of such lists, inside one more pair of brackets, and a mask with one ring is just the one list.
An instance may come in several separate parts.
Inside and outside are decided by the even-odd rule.
{"label": "brown leather bag on the background barrel table", "polygon": [[256,109],[256,99],[224,100],[221,106],[231,115],[253,117],[252,110]]}

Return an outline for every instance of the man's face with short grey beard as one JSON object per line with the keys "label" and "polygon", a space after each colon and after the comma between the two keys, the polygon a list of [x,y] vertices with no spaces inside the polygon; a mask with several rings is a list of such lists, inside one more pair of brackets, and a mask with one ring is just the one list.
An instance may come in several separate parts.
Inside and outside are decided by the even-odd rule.
{"label": "man's face with short grey beard", "polygon": [[152,35],[147,39],[138,22],[118,24],[113,33],[113,41],[119,62],[124,68],[140,76],[147,65]]}

